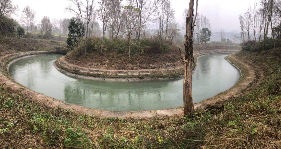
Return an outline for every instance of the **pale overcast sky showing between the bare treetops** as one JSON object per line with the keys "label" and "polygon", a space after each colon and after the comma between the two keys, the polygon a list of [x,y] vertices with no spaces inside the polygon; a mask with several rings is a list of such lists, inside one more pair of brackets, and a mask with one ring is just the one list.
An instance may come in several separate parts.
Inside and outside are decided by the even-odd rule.
{"label": "pale overcast sky showing between the bare treetops", "polygon": [[[53,18],[71,18],[73,15],[65,12],[69,5],[67,0],[12,0],[13,4],[19,6],[15,19],[19,20],[21,10],[28,5],[36,11],[36,19],[41,20],[44,16]],[[82,2],[85,0],[82,0]],[[172,7],[176,10],[176,21],[182,25],[182,13],[188,8],[188,0],[171,0]],[[253,6],[255,0],[198,0],[198,13],[207,16],[210,20],[212,31],[225,29],[226,32],[239,31],[238,15],[246,12],[248,6]],[[96,5],[98,8],[98,4]],[[195,9],[195,8],[194,8]],[[36,24],[37,24],[36,23]]]}

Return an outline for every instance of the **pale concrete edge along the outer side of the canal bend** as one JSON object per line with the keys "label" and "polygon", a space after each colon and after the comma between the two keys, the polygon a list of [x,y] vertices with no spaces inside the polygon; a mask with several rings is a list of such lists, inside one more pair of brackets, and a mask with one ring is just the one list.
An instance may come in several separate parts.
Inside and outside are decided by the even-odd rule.
{"label": "pale concrete edge along the outer side of the canal bend", "polygon": [[[163,110],[147,110],[147,111],[106,111],[106,110],[98,110],[92,108],[86,108],[74,104],[65,103],[63,101],[59,101],[57,99],[42,95],[33,90],[30,90],[23,85],[15,82],[8,72],[8,67],[10,64],[15,62],[16,60],[29,57],[30,55],[38,55],[38,54],[50,54],[55,53],[53,51],[40,51],[40,52],[21,52],[14,53],[9,55],[4,55],[0,57],[0,83],[4,84],[5,88],[10,88],[13,92],[22,94],[26,98],[30,98],[34,102],[42,103],[50,108],[65,108],[70,109],[76,113],[83,113],[101,117],[118,117],[118,118],[151,118],[151,117],[182,117],[183,116],[183,108],[171,108],[171,109],[163,109]],[[235,96],[235,94],[241,92],[246,89],[249,83],[253,81],[253,76],[255,75],[254,71],[251,67],[236,59],[234,56],[229,55],[226,59],[234,64],[238,69],[241,70],[243,74],[240,80],[229,90],[226,90],[214,97],[201,101],[200,103],[194,104],[195,109],[203,108],[206,105],[214,105],[218,101],[226,100],[230,96]]]}

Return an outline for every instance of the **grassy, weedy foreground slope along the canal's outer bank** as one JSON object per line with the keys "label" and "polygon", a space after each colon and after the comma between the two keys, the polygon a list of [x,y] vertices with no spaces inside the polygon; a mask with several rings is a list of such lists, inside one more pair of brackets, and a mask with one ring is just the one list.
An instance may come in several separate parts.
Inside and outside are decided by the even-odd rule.
{"label": "grassy, weedy foreground slope along the canal's outer bank", "polygon": [[257,72],[237,98],[184,118],[118,119],[78,115],[0,88],[0,148],[278,148],[281,49],[241,51]]}

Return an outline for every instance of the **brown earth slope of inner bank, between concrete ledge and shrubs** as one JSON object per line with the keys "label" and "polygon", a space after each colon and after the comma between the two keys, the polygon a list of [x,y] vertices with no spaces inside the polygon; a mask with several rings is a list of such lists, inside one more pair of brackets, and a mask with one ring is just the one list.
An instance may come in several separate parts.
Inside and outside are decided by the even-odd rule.
{"label": "brown earth slope of inner bank, between concrete ledge and shrubs", "polygon": [[[194,53],[208,50],[228,50],[241,49],[240,46],[208,44],[194,45]],[[75,55],[73,52],[65,56],[65,60],[70,64],[81,67],[100,68],[100,69],[161,69],[171,68],[181,65],[178,47],[173,46],[170,51],[157,53],[131,53],[131,60],[128,63],[128,53],[118,53],[115,51],[106,52],[102,55],[99,52],[89,52],[87,55]]]}

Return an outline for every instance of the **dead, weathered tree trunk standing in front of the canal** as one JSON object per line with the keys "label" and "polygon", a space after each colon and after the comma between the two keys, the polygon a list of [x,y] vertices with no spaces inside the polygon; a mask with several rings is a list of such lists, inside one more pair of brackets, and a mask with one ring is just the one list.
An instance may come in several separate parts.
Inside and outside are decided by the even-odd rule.
{"label": "dead, weathered tree trunk standing in front of the canal", "polygon": [[[196,0],[196,13],[193,14],[194,0],[189,1],[189,9],[186,16],[186,34],[185,34],[185,56],[182,56],[180,51],[180,58],[184,64],[183,75],[183,116],[187,116],[189,113],[194,112],[194,105],[192,100],[192,64],[194,64],[193,58],[193,30],[194,23],[197,16],[198,0]],[[194,17],[194,18],[193,18]]]}

